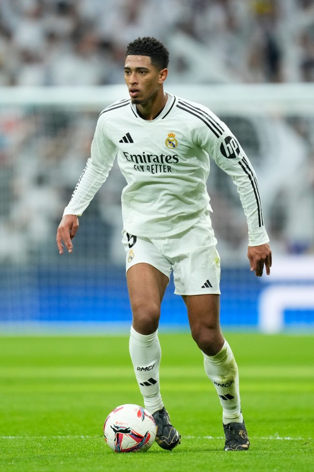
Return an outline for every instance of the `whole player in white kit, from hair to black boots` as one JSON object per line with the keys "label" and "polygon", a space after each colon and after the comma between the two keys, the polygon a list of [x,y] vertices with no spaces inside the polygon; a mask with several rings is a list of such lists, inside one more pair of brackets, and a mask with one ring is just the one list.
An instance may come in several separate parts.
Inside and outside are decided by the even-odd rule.
{"label": "whole player in white kit, from hair to black boots", "polygon": [[255,172],[230,129],[203,105],[163,89],[169,53],[152,37],[131,42],[124,76],[131,99],[99,116],[91,157],[57,230],[72,253],[78,216],[108,176],[117,155],[127,180],[122,192],[123,244],[132,309],[130,354],[145,408],[157,424],[156,441],[173,449],[181,436],[170,423],[159,389],[160,304],[173,271],[191,334],[204,354],[207,376],[222,405],[224,450],[247,450],[250,442],[239,395],[238,370],[219,324],[220,259],[210,221],[209,156],[237,186],[248,224],[251,271],[271,267]]}

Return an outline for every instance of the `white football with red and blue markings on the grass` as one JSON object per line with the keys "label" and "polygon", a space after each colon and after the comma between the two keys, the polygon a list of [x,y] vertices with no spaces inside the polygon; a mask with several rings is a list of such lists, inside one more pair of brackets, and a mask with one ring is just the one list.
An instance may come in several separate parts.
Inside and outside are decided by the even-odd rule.
{"label": "white football with red and blue markings on the grass", "polygon": [[153,416],[138,405],[121,405],[108,414],[104,424],[105,442],[115,452],[147,451],[156,438]]}

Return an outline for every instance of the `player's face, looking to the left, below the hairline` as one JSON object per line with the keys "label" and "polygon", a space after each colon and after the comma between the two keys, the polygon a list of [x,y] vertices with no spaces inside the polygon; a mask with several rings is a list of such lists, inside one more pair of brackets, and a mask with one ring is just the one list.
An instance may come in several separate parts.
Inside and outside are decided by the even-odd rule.
{"label": "player's face, looking to the left, below the hairline", "polygon": [[158,70],[149,56],[127,56],[124,78],[132,103],[145,104],[154,100],[167,76],[167,69]]}

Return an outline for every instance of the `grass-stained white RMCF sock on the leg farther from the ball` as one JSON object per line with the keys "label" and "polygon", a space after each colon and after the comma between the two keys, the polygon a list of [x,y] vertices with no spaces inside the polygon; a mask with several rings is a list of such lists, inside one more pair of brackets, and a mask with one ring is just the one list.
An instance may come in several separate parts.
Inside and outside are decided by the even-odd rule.
{"label": "grass-stained white RMCF sock on the leg farther from the ball", "polygon": [[223,423],[242,423],[238,370],[234,354],[226,340],[219,353],[204,354],[204,367],[217,390],[223,409]]}

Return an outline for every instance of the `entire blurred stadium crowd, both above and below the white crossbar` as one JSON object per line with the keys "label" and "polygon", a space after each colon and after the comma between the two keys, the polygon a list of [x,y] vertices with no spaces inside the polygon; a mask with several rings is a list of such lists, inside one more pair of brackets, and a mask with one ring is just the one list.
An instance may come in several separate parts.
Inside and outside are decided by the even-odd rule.
{"label": "entire blurred stadium crowd, both above and below the white crossbar", "polygon": [[[173,84],[314,79],[312,0],[0,0],[1,90],[123,83],[125,47],[139,35],[169,47]],[[99,111],[0,100],[0,263],[58,257],[56,226]],[[274,251],[314,252],[314,113],[220,118],[256,168]],[[109,177],[81,219],[77,254],[98,262],[110,239],[106,262],[123,263],[124,179],[116,167]],[[214,166],[209,195],[218,250],[236,263],[246,252],[243,210],[231,179]]]}

